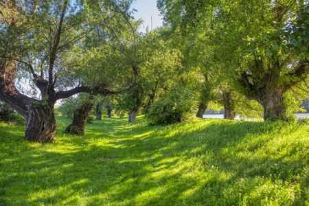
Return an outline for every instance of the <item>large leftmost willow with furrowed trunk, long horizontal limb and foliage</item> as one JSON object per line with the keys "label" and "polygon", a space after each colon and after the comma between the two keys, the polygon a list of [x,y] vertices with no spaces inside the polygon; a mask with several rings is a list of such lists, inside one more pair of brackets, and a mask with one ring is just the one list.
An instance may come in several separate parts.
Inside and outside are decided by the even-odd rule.
{"label": "large leftmost willow with furrowed trunk, long horizontal limb and foliage", "polygon": [[[53,141],[57,100],[135,87],[144,52],[131,3],[0,1],[0,97],[26,119],[25,139]],[[23,79],[40,95],[17,89]]]}

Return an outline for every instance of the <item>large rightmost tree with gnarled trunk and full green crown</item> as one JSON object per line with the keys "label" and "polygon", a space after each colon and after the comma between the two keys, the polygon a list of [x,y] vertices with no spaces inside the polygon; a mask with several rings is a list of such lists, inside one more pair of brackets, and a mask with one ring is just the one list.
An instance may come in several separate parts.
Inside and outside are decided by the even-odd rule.
{"label": "large rightmost tree with gnarled trunk and full green crown", "polygon": [[[182,1],[185,30],[207,30],[214,54],[264,119],[286,119],[284,94],[308,79],[308,3]],[[211,25],[205,27],[205,16]],[[210,30],[209,30],[210,29]],[[308,91],[308,88],[302,88]]]}

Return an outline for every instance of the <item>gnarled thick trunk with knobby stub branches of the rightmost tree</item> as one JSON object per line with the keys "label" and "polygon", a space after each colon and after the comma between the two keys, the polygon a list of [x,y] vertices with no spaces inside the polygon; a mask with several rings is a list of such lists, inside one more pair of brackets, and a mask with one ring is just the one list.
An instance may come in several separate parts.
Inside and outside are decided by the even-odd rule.
{"label": "gnarled thick trunk with knobby stub branches of the rightmost tree", "polygon": [[[279,54],[271,60],[265,58],[256,57],[249,67],[250,72],[240,73],[240,85],[248,100],[256,100],[263,106],[265,121],[287,120],[283,95],[297,85],[304,75],[308,75],[309,60],[299,60],[297,65],[288,66],[288,62],[280,62]],[[282,74],[287,67],[290,67],[288,72]]]}

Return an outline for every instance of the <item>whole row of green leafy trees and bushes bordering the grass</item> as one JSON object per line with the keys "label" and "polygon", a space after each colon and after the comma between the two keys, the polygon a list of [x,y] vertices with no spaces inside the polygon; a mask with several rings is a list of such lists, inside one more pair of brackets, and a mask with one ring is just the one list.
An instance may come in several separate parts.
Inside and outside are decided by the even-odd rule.
{"label": "whole row of green leafy trees and bushes bordering the grass", "polygon": [[284,120],[308,98],[308,2],[159,0],[165,25],[146,34],[132,1],[0,3],[0,98],[25,117],[30,141],[52,142],[56,101],[78,93],[88,95],[62,104],[77,109],[76,134],[93,106],[98,119],[115,106],[129,122],[144,108],[151,124],[215,103],[227,119]]}

